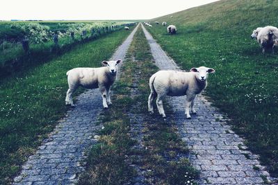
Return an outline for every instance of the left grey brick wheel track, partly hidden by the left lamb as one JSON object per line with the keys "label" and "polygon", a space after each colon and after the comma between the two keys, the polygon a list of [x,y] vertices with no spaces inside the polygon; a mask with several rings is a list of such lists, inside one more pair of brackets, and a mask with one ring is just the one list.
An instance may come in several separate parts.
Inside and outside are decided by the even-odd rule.
{"label": "left grey brick wheel track, partly hidden by the left lamb", "polygon": [[[137,27],[115,51],[111,60],[124,58]],[[71,184],[83,171],[85,150],[96,143],[97,117],[102,109],[98,89],[77,97],[76,107],[59,121],[38,152],[28,158],[14,184]]]}

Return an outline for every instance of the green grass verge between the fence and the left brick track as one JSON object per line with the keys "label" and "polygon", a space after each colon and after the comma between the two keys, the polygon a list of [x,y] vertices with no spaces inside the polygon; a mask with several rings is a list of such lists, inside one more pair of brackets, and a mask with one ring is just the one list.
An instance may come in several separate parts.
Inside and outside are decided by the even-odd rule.
{"label": "green grass verge between the fence and the left brick track", "polygon": [[121,30],[79,44],[46,64],[1,80],[0,184],[10,182],[26,157],[65,114],[65,73],[74,67],[100,67],[101,61],[108,60],[130,32]]}

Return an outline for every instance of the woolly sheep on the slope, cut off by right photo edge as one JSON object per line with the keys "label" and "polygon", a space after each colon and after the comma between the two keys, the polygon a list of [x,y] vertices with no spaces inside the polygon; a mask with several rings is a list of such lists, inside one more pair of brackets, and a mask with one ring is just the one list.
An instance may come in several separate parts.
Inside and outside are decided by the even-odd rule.
{"label": "woolly sheep on the slope, cut off by right photo edge", "polygon": [[265,26],[261,28],[256,39],[263,48],[263,54],[265,53],[265,49],[269,48],[274,53],[275,46],[278,46],[278,28],[275,26]]}

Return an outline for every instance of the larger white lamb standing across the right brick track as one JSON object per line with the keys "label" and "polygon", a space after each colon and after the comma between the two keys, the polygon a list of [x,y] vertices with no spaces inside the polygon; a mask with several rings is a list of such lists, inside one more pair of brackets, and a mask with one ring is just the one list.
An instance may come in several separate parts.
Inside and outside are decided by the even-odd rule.
{"label": "larger white lamb standing across the right brick track", "polygon": [[153,101],[156,98],[158,112],[166,117],[163,109],[163,99],[165,96],[184,96],[186,95],[186,118],[191,118],[189,109],[196,114],[194,109],[194,100],[196,94],[200,94],[206,88],[208,73],[214,73],[215,70],[207,67],[190,69],[190,72],[181,71],[158,71],[149,78],[148,107],[151,114],[154,113]]}

